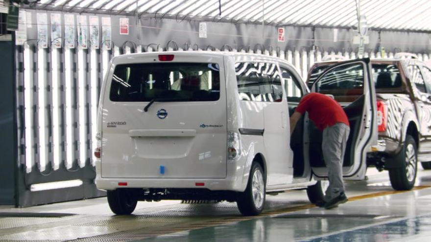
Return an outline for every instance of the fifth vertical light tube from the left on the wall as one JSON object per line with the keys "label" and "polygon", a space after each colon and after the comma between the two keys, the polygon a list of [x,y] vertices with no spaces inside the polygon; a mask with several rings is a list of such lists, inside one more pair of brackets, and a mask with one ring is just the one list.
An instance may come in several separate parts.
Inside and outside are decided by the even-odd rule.
{"label": "fifth vertical light tube from the left on the wall", "polygon": [[84,49],[78,48],[78,127],[79,127],[79,167],[85,166],[85,160],[87,159],[87,129],[85,127],[86,121],[86,59]]}

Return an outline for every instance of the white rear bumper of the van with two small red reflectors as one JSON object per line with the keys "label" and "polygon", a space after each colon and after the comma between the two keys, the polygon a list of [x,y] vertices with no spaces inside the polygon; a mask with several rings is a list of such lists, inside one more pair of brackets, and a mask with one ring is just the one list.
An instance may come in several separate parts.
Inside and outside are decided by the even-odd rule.
{"label": "white rear bumper of the van with two small red reflectors", "polygon": [[[124,185],[125,182],[127,185]],[[119,185],[122,184],[122,186]],[[203,183],[203,184],[202,184]],[[242,192],[235,179],[184,179],[184,178],[102,178],[96,177],[97,189],[115,190],[117,188],[207,188],[212,191],[227,190]]]}

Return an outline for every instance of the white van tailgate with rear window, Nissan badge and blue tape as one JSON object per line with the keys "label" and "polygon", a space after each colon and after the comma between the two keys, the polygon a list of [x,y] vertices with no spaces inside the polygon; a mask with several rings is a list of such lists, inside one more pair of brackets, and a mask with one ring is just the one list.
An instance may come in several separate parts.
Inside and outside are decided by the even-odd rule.
{"label": "white van tailgate with rear window, Nissan badge and blue tape", "polygon": [[224,76],[216,54],[114,59],[102,97],[102,177],[226,177]]}

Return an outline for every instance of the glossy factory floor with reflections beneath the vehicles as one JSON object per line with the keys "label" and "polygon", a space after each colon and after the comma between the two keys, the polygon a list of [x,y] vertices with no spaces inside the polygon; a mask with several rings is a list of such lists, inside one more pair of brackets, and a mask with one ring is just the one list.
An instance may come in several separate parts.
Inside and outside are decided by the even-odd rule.
{"label": "glossy factory floor with reflections beneath the vehicles", "polygon": [[15,209],[0,206],[0,241],[429,241],[431,171],[413,191],[393,191],[387,174],[346,183],[350,201],[333,210],[311,205],[304,191],[268,196],[259,217],[235,203],[140,202],[114,216],[106,198]]}

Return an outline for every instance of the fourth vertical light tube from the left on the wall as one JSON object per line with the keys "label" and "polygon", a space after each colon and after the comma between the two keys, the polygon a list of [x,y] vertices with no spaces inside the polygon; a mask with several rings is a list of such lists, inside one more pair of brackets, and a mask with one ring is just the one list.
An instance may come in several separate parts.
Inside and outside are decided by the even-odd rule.
{"label": "fourth vertical light tube from the left on the wall", "polygon": [[74,125],[73,125],[73,66],[72,66],[72,50],[65,48],[64,51],[64,72],[65,72],[65,122],[66,122],[66,161],[65,165],[67,169],[71,169],[73,165],[74,149]]}

